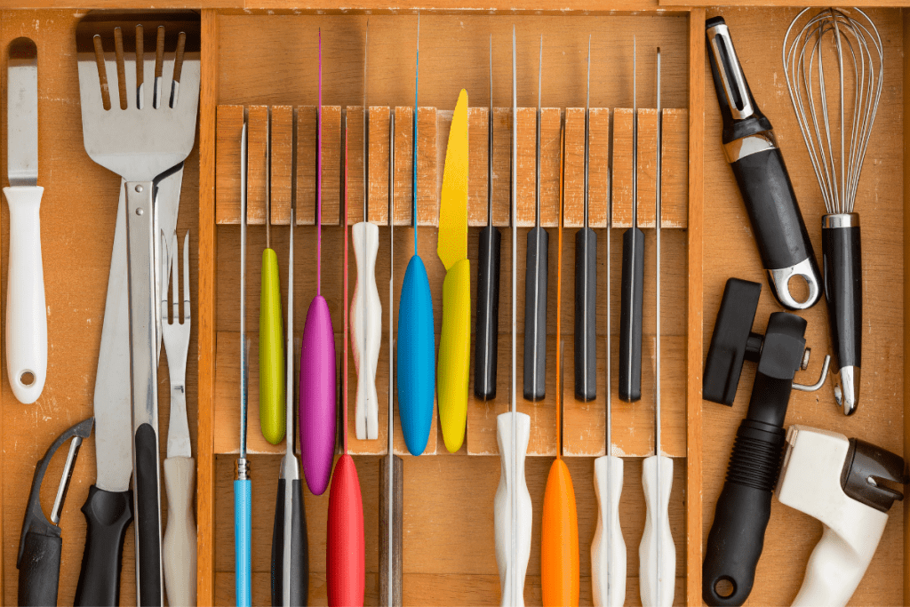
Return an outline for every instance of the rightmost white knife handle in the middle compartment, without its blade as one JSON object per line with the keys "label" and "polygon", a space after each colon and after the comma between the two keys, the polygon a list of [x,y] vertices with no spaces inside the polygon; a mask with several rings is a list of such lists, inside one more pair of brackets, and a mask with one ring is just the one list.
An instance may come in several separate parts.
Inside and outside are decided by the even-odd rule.
{"label": "rightmost white knife handle in the middle compartment, without its blade", "polygon": [[[660,467],[660,482],[658,482]],[[642,486],[647,514],[639,546],[638,576],[643,607],[671,607],[676,583],[676,546],[670,532],[670,489],[673,460],[654,455],[642,461]],[[660,555],[658,555],[660,540]]]}

